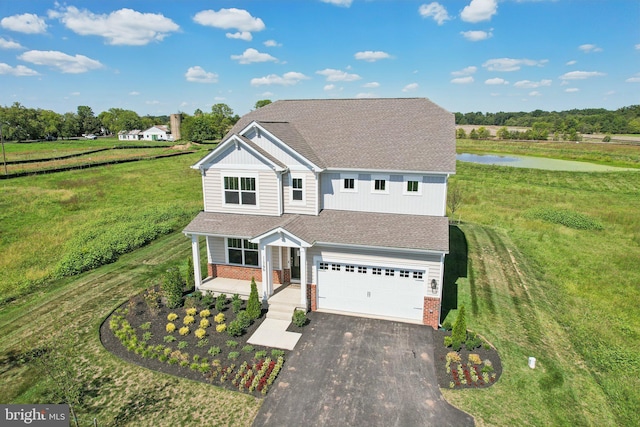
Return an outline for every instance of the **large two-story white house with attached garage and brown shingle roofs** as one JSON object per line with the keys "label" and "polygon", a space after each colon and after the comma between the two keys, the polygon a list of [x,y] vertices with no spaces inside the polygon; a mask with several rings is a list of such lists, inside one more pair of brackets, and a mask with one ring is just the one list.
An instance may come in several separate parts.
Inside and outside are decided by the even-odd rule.
{"label": "large two-story white house with attached garage and brown shingle roofs", "polygon": [[269,298],[293,283],[306,309],[438,327],[453,114],[424,98],[277,101],[193,168],[204,211],[184,233],[198,288],[255,277]]}

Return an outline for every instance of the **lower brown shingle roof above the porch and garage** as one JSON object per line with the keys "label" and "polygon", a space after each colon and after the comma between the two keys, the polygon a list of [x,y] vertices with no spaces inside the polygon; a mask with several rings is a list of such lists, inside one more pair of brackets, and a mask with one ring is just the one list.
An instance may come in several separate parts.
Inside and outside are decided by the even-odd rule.
{"label": "lower brown shingle roof above the porch and garage", "polygon": [[278,227],[313,245],[370,246],[444,253],[449,251],[448,219],[423,215],[327,209],[318,216],[200,212],[183,232],[252,239]]}

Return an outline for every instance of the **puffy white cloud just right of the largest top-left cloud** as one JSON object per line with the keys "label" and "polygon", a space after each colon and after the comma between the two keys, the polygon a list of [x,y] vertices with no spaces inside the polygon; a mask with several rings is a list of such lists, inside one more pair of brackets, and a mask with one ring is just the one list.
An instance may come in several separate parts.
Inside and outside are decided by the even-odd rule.
{"label": "puffy white cloud just right of the largest top-left cloud", "polygon": [[223,30],[236,30],[234,33],[226,33],[227,38],[251,41],[251,33],[265,29],[264,22],[260,18],[251,16],[244,9],[220,9],[203,10],[193,17],[193,20],[200,25],[220,28]]}

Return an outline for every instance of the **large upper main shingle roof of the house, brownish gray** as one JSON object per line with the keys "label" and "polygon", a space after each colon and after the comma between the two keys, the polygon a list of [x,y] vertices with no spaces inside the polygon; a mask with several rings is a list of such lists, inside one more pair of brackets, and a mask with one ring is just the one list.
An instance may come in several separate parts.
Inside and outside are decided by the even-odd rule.
{"label": "large upper main shingle roof of the house, brownish gray", "polygon": [[454,116],[426,98],[276,101],[244,115],[227,137],[252,121],[327,168],[455,171]]}

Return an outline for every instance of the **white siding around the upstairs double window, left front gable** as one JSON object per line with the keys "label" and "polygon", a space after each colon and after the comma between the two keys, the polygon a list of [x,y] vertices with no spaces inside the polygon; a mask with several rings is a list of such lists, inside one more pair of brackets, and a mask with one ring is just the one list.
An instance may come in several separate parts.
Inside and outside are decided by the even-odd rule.
{"label": "white siding around the upstairs double window, left front gable", "polygon": [[[256,204],[224,204],[224,177],[255,177]],[[204,191],[204,210],[206,212],[224,212],[239,214],[279,215],[278,209],[278,177],[275,172],[268,171],[227,171],[208,169],[202,179]],[[238,182],[240,182],[238,180]]]}

